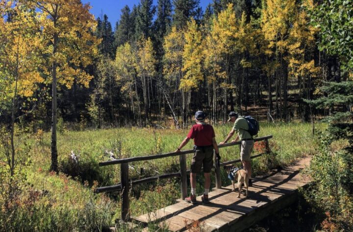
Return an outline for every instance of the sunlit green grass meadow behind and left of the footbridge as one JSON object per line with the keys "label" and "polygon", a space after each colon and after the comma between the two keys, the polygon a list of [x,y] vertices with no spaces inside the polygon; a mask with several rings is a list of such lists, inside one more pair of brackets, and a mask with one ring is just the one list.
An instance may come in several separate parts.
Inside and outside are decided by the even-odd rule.
{"label": "sunlit green grass meadow behind and left of the footbridge", "polygon": [[[324,129],[325,124],[316,124]],[[221,142],[231,125],[215,126],[216,140]],[[273,135],[270,139],[271,154],[252,160],[253,176],[278,166],[286,166],[296,158],[312,154],[317,148],[316,137],[311,134],[311,124],[306,123],[260,123],[259,136]],[[49,172],[50,133],[39,131],[30,137],[27,145],[29,162],[25,166],[26,180],[19,203],[20,211],[12,214],[13,229],[23,231],[97,231],[115,224],[120,217],[120,193],[99,193],[100,186],[120,182],[119,165],[99,167],[99,162],[109,160],[109,152],[116,158],[166,153],[176,150],[186,137],[188,129],[112,128],[86,129],[84,131],[62,130],[58,134],[60,174]],[[193,142],[183,149],[191,149]],[[261,146],[254,154],[261,152]],[[77,164],[70,159],[71,152],[78,157]],[[239,158],[239,147],[220,149],[221,161]],[[192,155],[187,155],[190,167]],[[133,179],[176,172],[178,157],[169,157],[130,164],[129,175]],[[223,186],[230,184],[222,169]],[[211,188],[215,186],[212,175]],[[130,190],[131,215],[173,204],[180,198],[177,178],[134,186]],[[190,188],[189,188],[190,190]],[[197,193],[203,192],[203,175],[198,175]],[[25,229],[24,229],[25,228]],[[11,228],[10,228],[11,229]],[[153,229],[152,227],[150,229]],[[121,231],[126,230],[120,227]]]}

